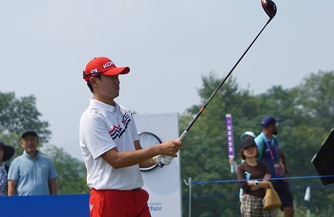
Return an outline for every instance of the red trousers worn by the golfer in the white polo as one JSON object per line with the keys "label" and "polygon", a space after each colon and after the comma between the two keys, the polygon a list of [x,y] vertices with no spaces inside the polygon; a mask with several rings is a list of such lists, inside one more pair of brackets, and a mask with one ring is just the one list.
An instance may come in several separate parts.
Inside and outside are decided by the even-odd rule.
{"label": "red trousers worn by the golfer in the white polo", "polygon": [[151,217],[148,209],[148,193],[139,191],[91,189],[90,217]]}

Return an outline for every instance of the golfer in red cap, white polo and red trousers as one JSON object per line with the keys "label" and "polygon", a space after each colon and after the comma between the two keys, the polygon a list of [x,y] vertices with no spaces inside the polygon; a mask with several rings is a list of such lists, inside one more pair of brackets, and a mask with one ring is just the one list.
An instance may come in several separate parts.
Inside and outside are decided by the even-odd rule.
{"label": "golfer in red cap, white polo and red trousers", "polygon": [[[91,189],[91,217],[151,216],[139,167],[169,165],[181,142],[170,140],[142,149],[132,114],[114,99],[119,95],[118,75],[129,67],[116,67],[106,57],[95,57],[83,73],[93,98],[80,120],[80,147]],[[157,177],[158,180],[158,177]]]}

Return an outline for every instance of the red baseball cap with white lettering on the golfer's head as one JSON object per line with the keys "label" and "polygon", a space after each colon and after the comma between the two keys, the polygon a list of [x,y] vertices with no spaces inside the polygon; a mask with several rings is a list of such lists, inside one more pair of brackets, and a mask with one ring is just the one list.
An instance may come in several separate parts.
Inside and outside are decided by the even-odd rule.
{"label": "red baseball cap with white lettering on the golfer's head", "polygon": [[124,75],[128,74],[130,68],[125,67],[116,67],[116,65],[107,57],[95,57],[90,60],[85,70],[83,71],[83,79],[88,81],[90,78],[97,75],[106,75],[106,76],[115,76],[115,75]]}

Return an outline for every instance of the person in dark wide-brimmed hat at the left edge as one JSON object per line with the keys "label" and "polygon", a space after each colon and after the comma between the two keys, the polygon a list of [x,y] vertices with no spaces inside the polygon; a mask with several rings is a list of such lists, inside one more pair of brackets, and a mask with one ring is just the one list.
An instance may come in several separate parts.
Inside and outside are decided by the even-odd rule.
{"label": "person in dark wide-brimmed hat at the left edge", "polygon": [[0,141],[0,196],[7,196],[8,180],[7,174],[9,167],[3,162],[8,161],[14,155],[14,148],[6,146],[3,141]]}

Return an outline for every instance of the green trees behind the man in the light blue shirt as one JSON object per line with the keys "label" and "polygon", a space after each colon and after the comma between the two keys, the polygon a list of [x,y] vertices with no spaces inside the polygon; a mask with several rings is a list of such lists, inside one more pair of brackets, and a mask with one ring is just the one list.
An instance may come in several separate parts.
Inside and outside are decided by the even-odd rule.
{"label": "green trees behind the man in the light blue shirt", "polygon": [[41,121],[40,117],[41,113],[36,108],[35,96],[16,98],[14,93],[0,92],[0,140],[14,147],[15,155],[11,160],[23,153],[20,145],[22,132],[26,129],[35,129],[40,137],[38,149],[42,149],[45,155],[51,157],[57,170],[58,194],[89,193],[84,163],[71,157],[61,148],[51,145],[45,147],[51,131],[48,129],[49,123]]}

